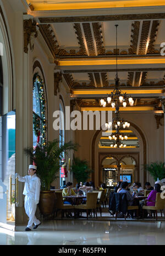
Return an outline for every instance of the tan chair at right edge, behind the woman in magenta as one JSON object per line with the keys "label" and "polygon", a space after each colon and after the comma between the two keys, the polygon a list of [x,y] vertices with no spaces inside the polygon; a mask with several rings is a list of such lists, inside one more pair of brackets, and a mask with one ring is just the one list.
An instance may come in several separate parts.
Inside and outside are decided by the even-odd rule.
{"label": "tan chair at right edge, behind the woman in magenta", "polygon": [[[164,209],[164,205],[165,205],[165,199],[161,198],[161,193],[157,193],[156,194],[155,206],[144,205],[144,206],[142,206],[142,210],[154,211],[154,213],[156,213],[156,221],[157,221],[157,211],[158,210],[161,211],[161,217],[162,217],[162,210]],[[144,211],[143,211],[143,216],[144,216]]]}

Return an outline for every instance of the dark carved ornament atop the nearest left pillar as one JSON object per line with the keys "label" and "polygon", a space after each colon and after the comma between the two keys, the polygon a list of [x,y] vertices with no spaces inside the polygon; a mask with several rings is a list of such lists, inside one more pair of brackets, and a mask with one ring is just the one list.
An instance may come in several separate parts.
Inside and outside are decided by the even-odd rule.
{"label": "dark carved ornament atop the nearest left pillar", "polygon": [[30,50],[34,48],[34,43],[32,43],[32,37],[36,38],[38,35],[36,21],[32,19],[24,20],[24,52],[28,52],[28,46],[30,45]]}

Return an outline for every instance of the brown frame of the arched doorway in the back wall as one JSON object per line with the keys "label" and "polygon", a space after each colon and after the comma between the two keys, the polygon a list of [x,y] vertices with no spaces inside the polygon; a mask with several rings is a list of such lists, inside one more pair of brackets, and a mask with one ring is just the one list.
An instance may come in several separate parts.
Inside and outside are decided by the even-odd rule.
{"label": "brown frame of the arched doorway in the back wall", "polygon": [[[136,181],[140,181],[141,183],[146,182],[146,172],[144,172],[141,168],[142,164],[146,164],[147,162],[147,144],[146,144],[146,138],[144,133],[141,131],[141,129],[136,126],[136,124],[130,122],[130,129],[135,132],[137,135],[140,146],[139,149],[111,149],[111,148],[100,148],[98,149],[98,143],[100,141],[102,130],[97,130],[94,134],[94,137],[92,139],[91,143],[91,167],[92,170],[95,170],[95,172],[92,173],[92,181],[95,181],[95,184],[98,184],[100,186],[100,182],[102,181],[102,160],[106,158],[106,156],[114,156],[114,158],[118,158],[118,160],[122,159],[122,157],[126,155],[130,155],[131,157],[134,157],[136,160]],[[119,176],[118,176],[119,177]],[[118,178],[119,179],[119,178]]]}

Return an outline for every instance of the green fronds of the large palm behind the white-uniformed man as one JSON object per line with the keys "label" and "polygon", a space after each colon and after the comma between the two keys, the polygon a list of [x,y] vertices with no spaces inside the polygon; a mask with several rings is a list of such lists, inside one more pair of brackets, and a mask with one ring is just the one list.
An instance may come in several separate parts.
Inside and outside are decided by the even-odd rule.
{"label": "green fronds of the large palm behind the white-uniformed man", "polygon": [[33,148],[26,148],[25,154],[36,163],[37,176],[41,179],[41,190],[50,190],[51,183],[58,178],[59,168],[64,153],[76,150],[76,145],[69,141],[59,146],[58,140],[48,141],[45,146],[38,144],[35,152]]}

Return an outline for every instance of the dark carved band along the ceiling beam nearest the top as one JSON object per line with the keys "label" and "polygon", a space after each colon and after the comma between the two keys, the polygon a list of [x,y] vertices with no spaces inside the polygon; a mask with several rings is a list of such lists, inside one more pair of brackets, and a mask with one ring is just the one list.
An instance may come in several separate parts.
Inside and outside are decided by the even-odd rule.
{"label": "dark carved band along the ceiling beam nearest the top", "polygon": [[[131,1],[130,1],[131,2]],[[39,17],[40,23],[74,23],[74,22],[100,22],[112,20],[160,20],[165,19],[165,13],[119,14],[119,15],[92,15],[75,17]]]}

